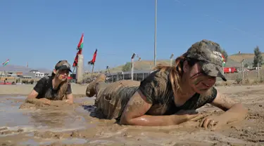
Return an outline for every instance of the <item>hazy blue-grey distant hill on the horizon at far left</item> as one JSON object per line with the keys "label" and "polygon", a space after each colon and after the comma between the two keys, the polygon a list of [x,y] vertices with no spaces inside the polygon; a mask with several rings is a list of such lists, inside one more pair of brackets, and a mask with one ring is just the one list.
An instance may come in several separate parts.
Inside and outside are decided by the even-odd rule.
{"label": "hazy blue-grey distant hill on the horizon at far left", "polygon": [[[29,72],[30,70],[32,70],[32,68],[27,68],[24,66],[20,66],[20,65],[6,65],[6,66],[1,66],[0,67],[0,71],[10,71],[10,72]],[[43,69],[43,68],[39,68],[39,69],[34,69],[34,70],[38,70],[39,72],[44,72],[44,73],[51,73],[51,70],[49,69]]]}

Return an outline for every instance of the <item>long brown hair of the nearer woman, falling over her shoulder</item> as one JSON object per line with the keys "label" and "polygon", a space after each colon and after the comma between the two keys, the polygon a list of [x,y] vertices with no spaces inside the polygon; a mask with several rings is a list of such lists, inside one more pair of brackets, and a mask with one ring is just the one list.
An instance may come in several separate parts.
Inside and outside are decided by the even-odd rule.
{"label": "long brown hair of the nearer woman, falling over her shoulder", "polygon": [[173,94],[177,95],[177,91],[180,90],[182,91],[182,88],[180,86],[181,81],[182,81],[182,74],[183,74],[183,63],[186,60],[188,62],[188,65],[190,67],[194,66],[194,64],[197,62],[197,60],[191,59],[191,58],[186,58],[186,53],[181,55],[180,57],[175,59],[175,65],[168,66],[168,65],[158,65],[154,67],[154,70],[160,70],[161,73],[164,71],[169,71],[170,72],[170,83],[172,85],[172,91]]}

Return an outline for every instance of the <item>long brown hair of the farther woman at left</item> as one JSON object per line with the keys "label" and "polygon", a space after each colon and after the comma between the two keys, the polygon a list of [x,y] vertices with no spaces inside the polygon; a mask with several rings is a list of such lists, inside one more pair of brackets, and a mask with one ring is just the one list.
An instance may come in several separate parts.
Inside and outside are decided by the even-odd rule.
{"label": "long brown hair of the farther woman at left", "polygon": [[[60,72],[61,70],[58,70],[56,74],[52,72],[51,74],[52,79],[57,78],[60,75]],[[62,81],[59,86],[60,89],[58,90],[58,97],[56,97],[55,100],[63,100],[63,98],[65,98],[65,92],[67,91],[68,88],[68,78],[65,81]]]}

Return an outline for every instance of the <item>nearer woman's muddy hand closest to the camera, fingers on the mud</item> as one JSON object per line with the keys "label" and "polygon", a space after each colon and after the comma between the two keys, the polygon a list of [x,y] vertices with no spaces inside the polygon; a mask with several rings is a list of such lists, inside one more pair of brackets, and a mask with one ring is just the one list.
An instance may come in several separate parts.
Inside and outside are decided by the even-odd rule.
{"label": "nearer woman's muddy hand closest to the camera, fingers on the mud", "polygon": [[204,118],[200,122],[199,127],[203,127],[215,131],[215,129],[217,129],[222,124],[225,124],[225,121],[223,119],[220,119],[219,117],[216,116],[211,116]]}

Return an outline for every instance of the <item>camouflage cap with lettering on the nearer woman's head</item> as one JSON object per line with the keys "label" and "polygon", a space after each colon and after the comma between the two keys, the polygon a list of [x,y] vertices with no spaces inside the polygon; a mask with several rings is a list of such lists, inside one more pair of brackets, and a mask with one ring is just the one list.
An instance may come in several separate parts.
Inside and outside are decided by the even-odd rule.
{"label": "camouflage cap with lettering on the nearer woman's head", "polygon": [[223,81],[227,81],[222,70],[224,58],[219,44],[203,39],[188,49],[186,57],[199,60],[203,72],[209,76],[220,77]]}

